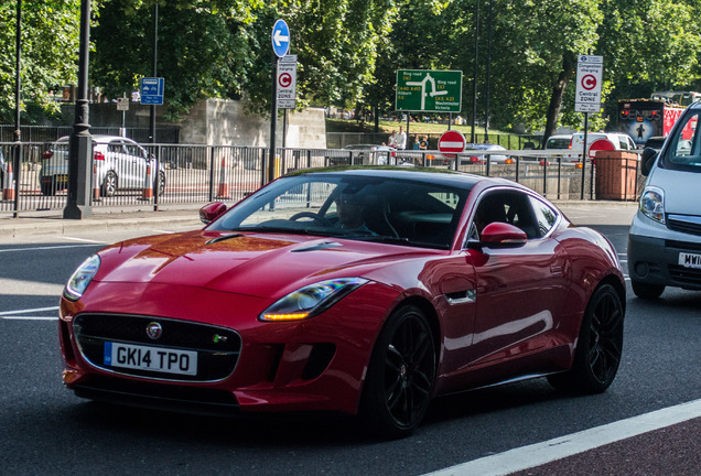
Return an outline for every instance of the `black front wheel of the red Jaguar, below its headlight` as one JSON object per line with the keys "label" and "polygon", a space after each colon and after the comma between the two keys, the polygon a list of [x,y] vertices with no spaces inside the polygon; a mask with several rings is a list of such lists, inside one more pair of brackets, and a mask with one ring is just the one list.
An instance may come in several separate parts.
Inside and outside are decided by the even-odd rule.
{"label": "black front wheel of the red Jaguar, below its headlight", "polygon": [[433,333],[416,306],[396,311],[377,339],[367,371],[360,413],[370,430],[402,437],[419,425],[435,381]]}

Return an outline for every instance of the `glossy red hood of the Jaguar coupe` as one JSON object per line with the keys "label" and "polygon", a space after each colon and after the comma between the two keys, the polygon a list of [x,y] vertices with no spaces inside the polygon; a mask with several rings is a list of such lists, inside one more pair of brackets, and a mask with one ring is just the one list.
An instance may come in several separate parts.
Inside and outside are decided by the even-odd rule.
{"label": "glossy red hood of the Jaguar coupe", "polygon": [[[233,236],[212,241],[226,235]],[[202,230],[106,248],[99,252],[95,281],[183,284],[269,298],[325,279],[364,275],[390,261],[432,251],[336,238]]]}

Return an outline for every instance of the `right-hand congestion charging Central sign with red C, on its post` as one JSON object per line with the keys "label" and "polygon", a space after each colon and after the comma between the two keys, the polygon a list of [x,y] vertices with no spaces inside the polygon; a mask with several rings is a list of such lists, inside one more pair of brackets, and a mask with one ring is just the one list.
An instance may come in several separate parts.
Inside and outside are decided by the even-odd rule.
{"label": "right-hand congestion charging Central sign with red C, on its post", "polygon": [[601,83],[603,71],[603,56],[579,56],[576,62],[576,93],[574,97],[574,112],[584,112],[581,199],[584,199],[584,178],[586,177],[586,130],[589,129],[589,113],[598,112],[601,110]]}

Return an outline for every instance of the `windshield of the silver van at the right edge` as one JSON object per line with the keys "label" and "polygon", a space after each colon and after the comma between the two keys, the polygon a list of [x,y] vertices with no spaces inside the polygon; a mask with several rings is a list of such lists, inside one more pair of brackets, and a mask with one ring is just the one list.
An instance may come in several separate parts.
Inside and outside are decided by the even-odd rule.
{"label": "windshield of the silver van at the right edge", "polygon": [[701,132],[697,128],[700,112],[686,115],[678,123],[662,158],[665,169],[701,172]]}

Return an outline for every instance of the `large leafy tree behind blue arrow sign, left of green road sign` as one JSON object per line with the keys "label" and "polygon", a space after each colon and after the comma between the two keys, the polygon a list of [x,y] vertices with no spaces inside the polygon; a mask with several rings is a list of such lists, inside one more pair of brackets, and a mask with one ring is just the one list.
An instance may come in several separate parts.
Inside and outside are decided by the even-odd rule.
{"label": "large leafy tree behind blue arrow sign, left of green road sign", "polygon": [[[171,117],[211,97],[242,97],[254,110],[269,110],[278,18],[289,23],[290,53],[298,54],[300,105],[356,99],[371,80],[388,1],[161,1],[158,74]],[[93,79],[112,96],[152,74],[152,1],[111,0],[100,12]]]}

